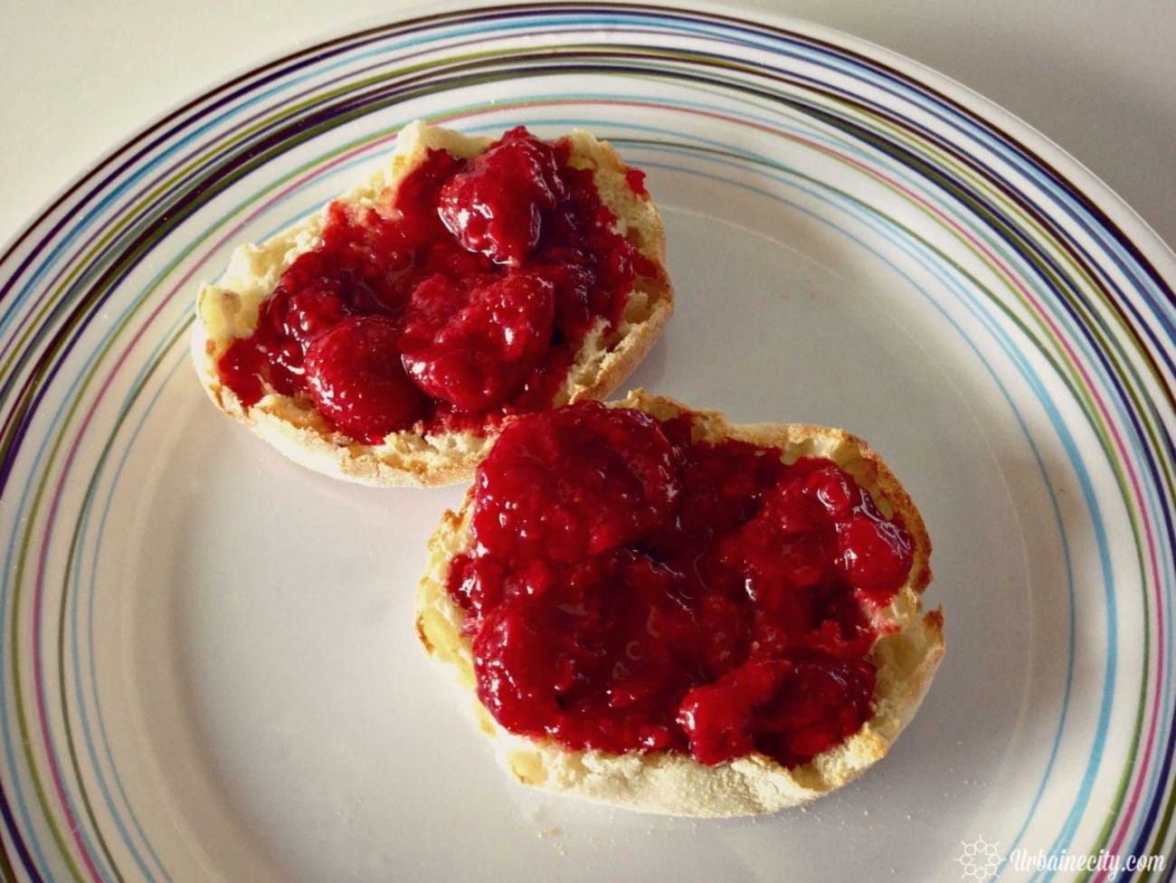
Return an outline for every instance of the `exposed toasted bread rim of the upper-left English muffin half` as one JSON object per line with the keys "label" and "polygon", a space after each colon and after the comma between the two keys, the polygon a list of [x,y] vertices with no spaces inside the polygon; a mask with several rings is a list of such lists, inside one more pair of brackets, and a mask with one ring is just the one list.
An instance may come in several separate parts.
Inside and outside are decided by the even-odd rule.
{"label": "exposed toasted bread rim of the upper-left English muffin half", "polygon": [[[666,272],[666,235],[653,201],[627,185],[624,163],[610,145],[586,132],[573,132],[567,139],[572,165],[593,169],[602,201],[617,218],[617,230],[654,262],[657,274],[637,280],[615,329],[606,334],[601,323],[589,332],[556,395],[556,406],[602,399],[616,389],[656,342],[674,306]],[[381,205],[428,149],[470,159],[490,143],[488,138],[414,122],[400,133],[389,160],[339,201],[359,207]],[[365,444],[327,426],[308,397],[269,392],[252,407],[243,407],[220,382],[218,360],[234,340],[253,334],[262,302],[290,263],[319,243],[323,222],[325,212],[318,212],[267,242],[241,246],[221,280],[201,287],[192,356],[209,399],[290,460],[327,475],[382,487],[436,487],[468,480],[486,455],[492,435],[401,432],[388,435],[381,444]]]}

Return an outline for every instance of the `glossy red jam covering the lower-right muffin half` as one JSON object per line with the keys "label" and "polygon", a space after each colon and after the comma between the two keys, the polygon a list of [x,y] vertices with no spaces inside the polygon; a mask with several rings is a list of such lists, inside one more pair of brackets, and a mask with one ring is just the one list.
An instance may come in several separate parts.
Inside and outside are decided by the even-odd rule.
{"label": "glossy red jam covering the lower-right muffin half", "polygon": [[911,539],[830,461],[690,433],[595,402],[503,429],[448,584],[479,697],[570,749],[804,763],[873,713]]}

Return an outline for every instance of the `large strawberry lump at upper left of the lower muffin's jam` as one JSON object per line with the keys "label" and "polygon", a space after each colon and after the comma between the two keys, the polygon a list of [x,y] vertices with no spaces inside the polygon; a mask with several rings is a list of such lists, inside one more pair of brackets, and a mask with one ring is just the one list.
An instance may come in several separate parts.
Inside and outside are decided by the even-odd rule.
{"label": "large strawberry lump at upper left of the lower muffin's jam", "polygon": [[673,519],[679,451],[648,414],[580,402],[507,424],[475,476],[474,533],[507,560],[575,561]]}

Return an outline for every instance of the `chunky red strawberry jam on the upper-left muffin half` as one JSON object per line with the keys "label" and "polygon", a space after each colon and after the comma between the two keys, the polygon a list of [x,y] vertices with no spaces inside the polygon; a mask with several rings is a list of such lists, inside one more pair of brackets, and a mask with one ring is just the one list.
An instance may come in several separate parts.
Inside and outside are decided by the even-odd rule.
{"label": "chunky red strawberry jam on the upper-left muffin half", "polygon": [[220,380],[246,406],[306,396],[366,442],[550,407],[587,332],[657,272],[615,223],[566,143],[516,128],[473,160],[429,150],[376,206],[327,209]]}

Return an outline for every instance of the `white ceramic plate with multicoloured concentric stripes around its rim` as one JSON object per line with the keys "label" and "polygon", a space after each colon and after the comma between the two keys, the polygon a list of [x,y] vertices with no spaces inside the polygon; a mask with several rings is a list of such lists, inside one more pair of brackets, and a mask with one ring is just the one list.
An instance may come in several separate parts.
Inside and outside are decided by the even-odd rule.
{"label": "white ceramic plate with multicoloured concentric stripes around its rim", "polygon": [[[312,475],[205,401],[198,281],[415,118],[613,140],[679,289],[633,383],[846,427],[906,481],[948,655],[861,781],[722,822],[512,784],[413,636],[462,490]],[[1102,879],[1017,856],[1165,858],[1172,280],[1038,135],[787,20],[436,14],[199,98],[0,261],[5,877]]]}

